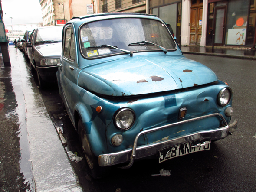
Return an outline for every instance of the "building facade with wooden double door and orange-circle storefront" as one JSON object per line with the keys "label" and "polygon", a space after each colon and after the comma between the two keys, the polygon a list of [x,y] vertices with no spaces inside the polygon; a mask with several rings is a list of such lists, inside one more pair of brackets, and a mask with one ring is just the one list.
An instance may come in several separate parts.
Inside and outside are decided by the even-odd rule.
{"label": "building facade with wooden double door and orange-circle storefront", "polygon": [[255,47],[255,0],[182,1],[181,45]]}

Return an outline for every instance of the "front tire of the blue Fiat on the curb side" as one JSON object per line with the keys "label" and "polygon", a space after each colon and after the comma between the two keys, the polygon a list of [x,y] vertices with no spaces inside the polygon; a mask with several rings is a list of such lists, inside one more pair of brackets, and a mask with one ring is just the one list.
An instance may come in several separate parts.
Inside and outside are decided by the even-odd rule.
{"label": "front tire of the blue Fiat on the curb side", "polygon": [[86,159],[88,172],[94,179],[102,178],[110,170],[110,167],[101,167],[98,164],[98,158],[93,154],[91,150],[90,143],[88,141],[85,127],[82,123],[82,120],[78,121],[78,132],[79,132],[79,141],[82,148],[83,155]]}

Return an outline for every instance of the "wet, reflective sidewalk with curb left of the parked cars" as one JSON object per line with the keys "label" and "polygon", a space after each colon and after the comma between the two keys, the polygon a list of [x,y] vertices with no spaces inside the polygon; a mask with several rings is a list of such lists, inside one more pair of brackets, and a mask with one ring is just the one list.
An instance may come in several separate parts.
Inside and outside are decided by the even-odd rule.
{"label": "wet, reflective sidewalk with curb left of the parked cars", "polygon": [[0,191],[82,192],[19,49],[0,57]]}

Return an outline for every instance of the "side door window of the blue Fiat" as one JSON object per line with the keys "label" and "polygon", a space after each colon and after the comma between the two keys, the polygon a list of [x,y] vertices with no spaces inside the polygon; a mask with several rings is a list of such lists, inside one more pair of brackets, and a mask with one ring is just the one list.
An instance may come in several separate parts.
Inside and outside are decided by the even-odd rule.
{"label": "side door window of the blue Fiat", "polygon": [[75,40],[74,33],[71,28],[66,29],[64,56],[68,59],[75,59]]}

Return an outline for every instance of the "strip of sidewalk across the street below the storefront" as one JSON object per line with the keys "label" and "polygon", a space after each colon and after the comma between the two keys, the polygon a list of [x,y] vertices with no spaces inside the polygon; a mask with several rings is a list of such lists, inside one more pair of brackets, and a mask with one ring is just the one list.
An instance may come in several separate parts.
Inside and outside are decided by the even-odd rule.
{"label": "strip of sidewalk across the street below the storefront", "polygon": [[185,54],[211,55],[256,60],[256,49],[214,46],[212,52],[212,46],[181,46],[181,51]]}

